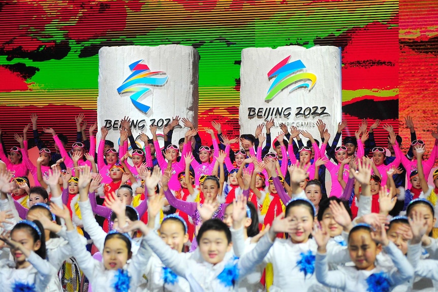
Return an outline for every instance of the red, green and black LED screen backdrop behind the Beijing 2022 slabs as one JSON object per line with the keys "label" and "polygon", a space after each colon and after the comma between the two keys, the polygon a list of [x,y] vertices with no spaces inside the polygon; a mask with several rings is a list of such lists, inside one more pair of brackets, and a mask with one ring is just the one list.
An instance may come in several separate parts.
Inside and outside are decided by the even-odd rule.
{"label": "red, green and black LED screen backdrop behind the Beijing 2022 slabs", "polygon": [[[342,48],[345,134],[354,135],[362,118],[380,118],[398,131],[398,117],[412,114],[418,135],[431,142],[427,131],[436,128],[438,111],[436,15],[434,0],[3,0],[4,140],[12,146],[12,134],[32,112],[40,126],[53,126],[71,141],[75,114],[85,113],[88,124],[95,120],[102,46],[181,44],[200,54],[201,128],[214,119],[226,134],[238,134],[243,48],[334,45]],[[406,140],[409,130],[400,125]],[[384,144],[381,127],[376,136]]]}

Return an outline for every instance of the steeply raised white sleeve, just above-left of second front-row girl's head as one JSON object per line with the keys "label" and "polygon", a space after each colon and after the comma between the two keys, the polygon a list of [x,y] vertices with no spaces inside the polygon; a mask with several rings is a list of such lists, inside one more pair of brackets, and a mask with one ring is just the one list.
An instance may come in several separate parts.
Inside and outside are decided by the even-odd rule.
{"label": "steeply raised white sleeve, just above-left of second front-row girl's head", "polygon": [[78,202],[79,209],[81,210],[82,215],[82,224],[84,226],[84,230],[90,236],[93,243],[99,249],[99,251],[103,251],[105,238],[107,233],[102,229],[99,223],[96,221],[96,218],[91,209],[91,203],[89,200],[85,202]]}

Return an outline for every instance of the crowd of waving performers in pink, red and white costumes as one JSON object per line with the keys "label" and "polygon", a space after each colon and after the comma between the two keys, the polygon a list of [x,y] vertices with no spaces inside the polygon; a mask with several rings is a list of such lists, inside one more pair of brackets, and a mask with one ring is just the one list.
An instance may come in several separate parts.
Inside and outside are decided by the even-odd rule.
{"label": "crowd of waving performers in pink, red and white costumes", "polygon": [[213,121],[202,145],[175,117],[164,148],[156,126],[138,145],[127,117],[119,145],[105,127],[97,142],[96,124],[87,137],[82,114],[72,144],[55,127],[43,142],[37,121],[0,147],[0,291],[60,291],[72,256],[93,292],[438,291],[438,132],[425,145],[410,117],[406,154],[379,120],[340,146],[346,121],[318,120],[318,139],[284,124],[271,137],[273,120],[227,137]]}

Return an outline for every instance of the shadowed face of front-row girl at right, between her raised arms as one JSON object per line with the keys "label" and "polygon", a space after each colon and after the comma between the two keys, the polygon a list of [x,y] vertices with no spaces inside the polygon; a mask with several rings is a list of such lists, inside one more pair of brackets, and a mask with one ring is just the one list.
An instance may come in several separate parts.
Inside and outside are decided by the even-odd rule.
{"label": "shadowed face of front-row girl at right, between her raised arms", "polygon": [[376,266],[376,255],[382,250],[381,245],[377,245],[371,239],[371,234],[366,230],[358,230],[350,234],[348,250],[353,263],[358,270],[372,270]]}

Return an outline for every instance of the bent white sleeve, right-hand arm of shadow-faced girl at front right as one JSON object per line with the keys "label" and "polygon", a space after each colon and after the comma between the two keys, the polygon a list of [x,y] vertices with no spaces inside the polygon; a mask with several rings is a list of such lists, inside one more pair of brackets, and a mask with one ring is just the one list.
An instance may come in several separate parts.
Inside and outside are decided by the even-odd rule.
{"label": "bent white sleeve, right-hand arm of shadow-faced girl at front right", "polygon": [[398,249],[392,241],[383,249],[392,259],[395,266],[395,268],[389,272],[392,285],[399,285],[414,277],[414,268],[412,268],[408,258],[403,255],[401,250]]}

